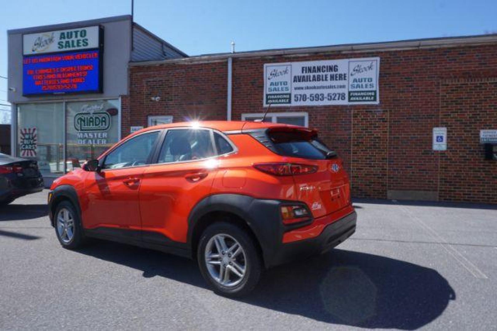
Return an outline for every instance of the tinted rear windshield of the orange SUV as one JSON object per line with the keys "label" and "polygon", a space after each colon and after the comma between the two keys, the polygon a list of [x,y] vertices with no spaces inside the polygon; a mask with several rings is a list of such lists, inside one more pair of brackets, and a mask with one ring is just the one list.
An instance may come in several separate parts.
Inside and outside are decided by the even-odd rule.
{"label": "tinted rear windshield of the orange SUV", "polygon": [[283,156],[324,160],[334,155],[317,134],[308,131],[269,131],[274,152]]}

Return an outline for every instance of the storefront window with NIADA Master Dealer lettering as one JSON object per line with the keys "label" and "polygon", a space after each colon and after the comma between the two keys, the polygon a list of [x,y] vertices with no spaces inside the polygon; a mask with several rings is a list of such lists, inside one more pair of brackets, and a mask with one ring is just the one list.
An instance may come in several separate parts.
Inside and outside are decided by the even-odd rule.
{"label": "storefront window with NIADA Master Dealer lettering", "polygon": [[67,171],[95,159],[119,138],[119,100],[66,102]]}

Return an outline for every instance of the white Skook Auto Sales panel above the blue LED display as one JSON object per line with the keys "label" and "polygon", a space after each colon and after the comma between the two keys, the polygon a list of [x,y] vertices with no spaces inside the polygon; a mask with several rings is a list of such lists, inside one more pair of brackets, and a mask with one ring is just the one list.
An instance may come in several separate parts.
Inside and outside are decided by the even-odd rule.
{"label": "white Skook Auto Sales panel above the blue LED display", "polygon": [[99,37],[99,26],[25,34],[22,36],[22,54],[96,49]]}

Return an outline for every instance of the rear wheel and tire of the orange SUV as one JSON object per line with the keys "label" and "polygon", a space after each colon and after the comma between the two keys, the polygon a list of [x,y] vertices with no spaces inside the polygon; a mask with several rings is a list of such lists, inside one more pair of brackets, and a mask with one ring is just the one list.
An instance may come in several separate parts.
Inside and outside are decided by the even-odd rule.
{"label": "rear wheel and tire of the orange SUV", "polygon": [[197,262],[214,291],[227,297],[246,295],[262,273],[262,259],[254,239],[244,229],[227,222],[205,229],[198,244]]}

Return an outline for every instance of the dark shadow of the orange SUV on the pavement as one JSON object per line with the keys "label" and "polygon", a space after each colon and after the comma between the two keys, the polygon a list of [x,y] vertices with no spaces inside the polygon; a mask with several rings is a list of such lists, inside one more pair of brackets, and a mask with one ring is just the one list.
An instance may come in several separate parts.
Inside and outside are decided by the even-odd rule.
{"label": "dark shadow of the orange SUV on the pavement", "polygon": [[[111,242],[80,253],[206,288],[195,262]],[[334,325],[414,330],[435,320],[456,294],[437,271],[382,256],[335,249],[269,269],[257,288],[237,299]]]}

